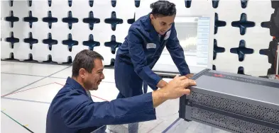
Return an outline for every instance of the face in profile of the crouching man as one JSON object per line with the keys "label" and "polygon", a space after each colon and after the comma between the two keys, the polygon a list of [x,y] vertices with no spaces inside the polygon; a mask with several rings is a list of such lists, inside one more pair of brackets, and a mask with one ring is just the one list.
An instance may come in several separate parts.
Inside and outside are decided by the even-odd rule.
{"label": "face in profile of the crouching man", "polygon": [[102,60],[95,59],[91,74],[88,71],[84,72],[84,87],[89,90],[97,90],[102,79],[104,79],[103,69]]}

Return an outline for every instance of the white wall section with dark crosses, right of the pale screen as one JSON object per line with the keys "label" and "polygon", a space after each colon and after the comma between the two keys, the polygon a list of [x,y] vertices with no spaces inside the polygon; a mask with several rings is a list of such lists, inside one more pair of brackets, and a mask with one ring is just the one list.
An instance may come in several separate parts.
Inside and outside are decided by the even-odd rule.
{"label": "white wall section with dark crosses, right of the pale screen", "polygon": [[[270,29],[264,23],[273,13],[271,1],[214,1],[214,65],[219,71],[263,76],[270,64],[268,49]],[[265,10],[266,8],[266,10]],[[256,13],[255,11],[262,11]],[[268,15],[267,15],[268,14]]]}

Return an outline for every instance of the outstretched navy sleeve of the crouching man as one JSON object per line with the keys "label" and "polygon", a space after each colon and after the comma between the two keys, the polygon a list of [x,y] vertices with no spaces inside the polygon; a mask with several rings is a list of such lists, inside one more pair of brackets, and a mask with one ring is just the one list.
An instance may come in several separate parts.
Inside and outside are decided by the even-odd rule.
{"label": "outstretched navy sleeve of the crouching man", "polygon": [[62,98],[60,104],[62,107],[58,110],[61,110],[62,119],[72,129],[156,119],[152,93],[94,103],[75,91]]}

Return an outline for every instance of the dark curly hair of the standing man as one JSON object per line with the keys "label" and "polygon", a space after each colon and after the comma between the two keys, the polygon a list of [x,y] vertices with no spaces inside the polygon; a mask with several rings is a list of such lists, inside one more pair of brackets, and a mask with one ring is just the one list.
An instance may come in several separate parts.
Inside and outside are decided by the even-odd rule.
{"label": "dark curly hair of the standing man", "polygon": [[169,2],[169,1],[156,1],[153,4],[151,4],[151,14],[153,16],[173,16],[176,15],[176,8],[175,4]]}

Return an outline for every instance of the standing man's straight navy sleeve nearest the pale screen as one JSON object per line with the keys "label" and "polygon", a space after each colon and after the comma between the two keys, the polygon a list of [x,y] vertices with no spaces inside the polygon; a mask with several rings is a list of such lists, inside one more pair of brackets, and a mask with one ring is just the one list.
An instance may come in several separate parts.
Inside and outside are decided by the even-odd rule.
{"label": "standing man's straight navy sleeve nearest the pale screen", "polygon": [[166,47],[168,52],[170,52],[170,56],[172,57],[173,62],[175,62],[175,66],[179,70],[180,74],[182,76],[190,74],[190,69],[185,61],[184,50],[177,39],[175,24],[173,24],[173,28],[170,33],[170,37],[168,38]]}

